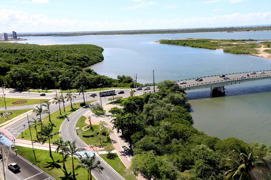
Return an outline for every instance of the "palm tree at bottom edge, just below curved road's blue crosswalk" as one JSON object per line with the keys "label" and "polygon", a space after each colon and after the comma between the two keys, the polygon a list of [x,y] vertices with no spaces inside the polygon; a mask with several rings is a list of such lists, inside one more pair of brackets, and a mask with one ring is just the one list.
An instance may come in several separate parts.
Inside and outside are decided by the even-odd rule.
{"label": "palm tree at bottom edge, just below curved road's blue crosswalk", "polygon": [[95,161],[96,156],[89,156],[88,153],[84,153],[85,157],[78,157],[78,160],[80,161],[80,165],[77,165],[75,169],[83,168],[88,170],[88,176],[90,175],[90,179],[92,180],[91,170],[95,170],[97,172],[102,172],[104,168],[100,165],[101,161]]}

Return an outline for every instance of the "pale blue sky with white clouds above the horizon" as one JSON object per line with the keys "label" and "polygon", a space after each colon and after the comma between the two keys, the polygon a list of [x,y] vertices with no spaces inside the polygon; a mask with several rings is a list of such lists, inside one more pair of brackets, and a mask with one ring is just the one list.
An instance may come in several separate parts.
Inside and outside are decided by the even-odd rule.
{"label": "pale blue sky with white clouds above the horizon", "polygon": [[270,0],[0,1],[1,33],[177,29],[270,24]]}

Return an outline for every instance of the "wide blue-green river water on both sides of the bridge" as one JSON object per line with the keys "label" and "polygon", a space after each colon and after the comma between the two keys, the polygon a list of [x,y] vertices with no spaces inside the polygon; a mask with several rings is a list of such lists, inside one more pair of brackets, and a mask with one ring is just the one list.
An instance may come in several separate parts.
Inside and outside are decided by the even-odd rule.
{"label": "wide blue-green river water on both sides of the bridge", "polygon": [[[152,43],[171,38],[271,39],[271,31],[23,38],[28,41],[20,43],[95,44],[103,47],[105,59],[91,69],[113,78],[137,74],[141,83],[152,82],[152,70],[155,70],[155,82],[160,82],[200,77],[201,70],[203,76],[211,76],[252,71],[252,68],[258,71],[271,69],[270,60],[255,56]],[[208,89],[187,92],[194,127],[222,139],[236,137],[248,143],[258,141],[270,145],[271,79],[225,88],[226,95],[217,98],[211,98]]]}

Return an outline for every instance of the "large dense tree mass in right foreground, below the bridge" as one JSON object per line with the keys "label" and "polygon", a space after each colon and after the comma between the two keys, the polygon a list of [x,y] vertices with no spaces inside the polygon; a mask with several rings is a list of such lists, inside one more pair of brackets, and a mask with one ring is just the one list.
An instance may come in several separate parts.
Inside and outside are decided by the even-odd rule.
{"label": "large dense tree mass in right foreground, below the bridge", "polygon": [[194,128],[186,93],[173,81],[157,93],[129,97],[112,108],[113,128],[130,142],[130,171],[156,180],[268,180],[271,146],[221,140]]}

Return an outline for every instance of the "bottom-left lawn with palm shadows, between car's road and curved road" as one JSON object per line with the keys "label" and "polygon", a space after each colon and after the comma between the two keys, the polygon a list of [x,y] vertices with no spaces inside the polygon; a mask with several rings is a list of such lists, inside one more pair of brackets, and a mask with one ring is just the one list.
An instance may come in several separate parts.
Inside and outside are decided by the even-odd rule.
{"label": "bottom-left lawn with palm shadows, between car's road and curved road", "polygon": [[[17,153],[20,156],[24,157],[26,160],[28,160],[31,163],[35,163],[35,158],[34,158],[32,148],[16,146],[16,149],[18,149]],[[35,165],[39,167],[41,170],[43,170],[44,172],[48,173],[53,178],[57,180],[73,179],[71,157],[68,157],[67,160],[65,161],[66,170],[68,171],[68,175],[67,175],[66,173],[64,173],[65,170],[62,168],[63,166],[62,155],[52,152],[52,156],[55,161],[55,163],[53,163],[53,160],[49,156],[49,151],[35,149],[35,154],[36,154],[36,159],[37,159],[37,164]],[[78,164],[80,164],[80,162],[76,158],[74,160],[74,168]],[[86,171],[86,169],[75,170],[75,177],[77,180],[87,180],[88,172]],[[95,178],[92,177],[92,179],[95,179]]]}

